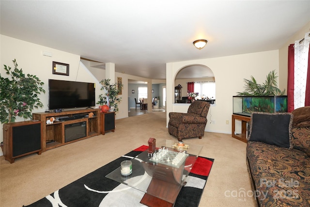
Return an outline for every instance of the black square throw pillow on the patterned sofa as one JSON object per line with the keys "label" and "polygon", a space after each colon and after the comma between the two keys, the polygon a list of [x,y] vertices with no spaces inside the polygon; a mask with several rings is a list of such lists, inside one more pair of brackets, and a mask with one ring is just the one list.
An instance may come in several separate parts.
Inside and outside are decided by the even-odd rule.
{"label": "black square throw pillow on the patterned sofa", "polygon": [[291,113],[253,112],[248,140],[292,149],[292,123]]}

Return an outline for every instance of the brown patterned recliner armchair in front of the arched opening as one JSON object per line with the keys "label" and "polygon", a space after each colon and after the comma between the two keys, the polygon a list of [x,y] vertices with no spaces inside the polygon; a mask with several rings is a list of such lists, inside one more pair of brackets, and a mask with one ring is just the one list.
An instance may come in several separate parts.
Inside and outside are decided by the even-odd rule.
{"label": "brown patterned recliner armchair in front of the arched opening", "polygon": [[195,101],[187,110],[187,113],[169,113],[169,134],[178,138],[179,141],[185,138],[199,137],[204,135],[204,128],[207,124],[207,114],[210,104],[206,101]]}

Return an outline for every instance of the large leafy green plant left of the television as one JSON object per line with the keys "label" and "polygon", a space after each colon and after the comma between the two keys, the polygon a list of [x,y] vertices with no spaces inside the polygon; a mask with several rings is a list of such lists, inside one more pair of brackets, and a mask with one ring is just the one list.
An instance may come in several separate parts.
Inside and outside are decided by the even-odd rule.
{"label": "large leafy green plant left of the television", "polygon": [[9,76],[4,78],[0,74],[0,121],[1,123],[15,122],[16,117],[32,119],[33,108],[43,107],[38,94],[44,93],[41,80],[34,76],[23,74],[22,69],[17,68],[14,59],[14,70],[4,65],[5,73]]}

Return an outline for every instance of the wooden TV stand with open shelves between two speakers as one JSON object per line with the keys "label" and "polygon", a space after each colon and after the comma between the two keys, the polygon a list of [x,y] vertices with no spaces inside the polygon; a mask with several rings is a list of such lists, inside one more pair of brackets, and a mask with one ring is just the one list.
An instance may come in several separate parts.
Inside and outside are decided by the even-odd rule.
{"label": "wooden TV stand with open shelves between two speakers", "polygon": [[[54,117],[74,117],[76,115],[88,115],[93,112],[93,117],[83,117],[66,121],[54,121],[53,124],[47,124],[47,119]],[[77,142],[79,140],[87,139],[100,134],[100,109],[81,109],[68,110],[62,112],[39,112],[32,113],[33,120],[40,120],[42,122],[42,152],[48,149],[59,147],[65,144]],[[86,136],[71,141],[65,142],[65,126],[86,122]]]}

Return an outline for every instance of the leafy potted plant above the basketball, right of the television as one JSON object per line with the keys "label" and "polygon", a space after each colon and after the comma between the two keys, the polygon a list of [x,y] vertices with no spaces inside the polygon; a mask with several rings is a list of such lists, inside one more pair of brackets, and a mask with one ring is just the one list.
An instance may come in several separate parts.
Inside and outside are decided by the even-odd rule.
{"label": "leafy potted plant above the basketball, right of the television", "polygon": [[118,111],[118,103],[122,100],[122,97],[118,97],[118,94],[122,90],[123,84],[110,84],[110,79],[101,80],[100,83],[103,85],[101,90],[105,90],[105,95],[99,95],[99,101],[97,104],[108,105],[110,111]]}

